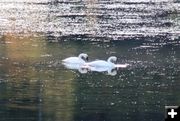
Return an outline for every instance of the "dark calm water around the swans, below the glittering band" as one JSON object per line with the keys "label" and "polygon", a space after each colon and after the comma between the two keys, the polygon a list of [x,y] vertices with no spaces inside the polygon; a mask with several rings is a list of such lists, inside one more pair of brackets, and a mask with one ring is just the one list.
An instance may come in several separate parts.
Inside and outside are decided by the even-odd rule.
{"label": "dark calm water around the swans, below the glittering band", "polygon": [[[164,105],[180,103],[180,49],[144,44],[148,43],[49,43],[45,36],[4,35],[0,44],[2,121],[164,120]],[[61,64],[81,52],[91,60],[115,55],[117,63],[131,66],[108,70],[114,75],[110,76],[104,68],[81,74]]]}

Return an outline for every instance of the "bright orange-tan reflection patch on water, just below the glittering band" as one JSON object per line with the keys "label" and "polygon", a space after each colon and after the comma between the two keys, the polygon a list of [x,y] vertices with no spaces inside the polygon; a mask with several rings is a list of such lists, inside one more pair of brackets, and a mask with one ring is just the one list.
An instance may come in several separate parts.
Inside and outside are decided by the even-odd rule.
{"label": "bright orange-tan reflection patch on water, just below the glittering band", "polygon": [[3,35],[6,47],[6,56],[9,59],[23,61],[24,59],[38,59],[44,54],[44,38],[29,36],[16,36],[15,34]]}

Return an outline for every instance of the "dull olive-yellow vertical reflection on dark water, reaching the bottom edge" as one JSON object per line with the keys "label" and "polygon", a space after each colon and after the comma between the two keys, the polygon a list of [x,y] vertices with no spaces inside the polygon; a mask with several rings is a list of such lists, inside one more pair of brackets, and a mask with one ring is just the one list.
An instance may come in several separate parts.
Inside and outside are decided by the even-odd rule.
{"label": "dull olive-yellow vertical reflection on dark water, reaching the bottom edge", "polygon": [[[53,115],[55,120],[72,121],[74,110],[75,75],[72,72],[53,72],[52,80],[44,82],[44,112]],[[57,76],[59,75],[59,76]],[[61,77],[58,79],[57,77]]]}

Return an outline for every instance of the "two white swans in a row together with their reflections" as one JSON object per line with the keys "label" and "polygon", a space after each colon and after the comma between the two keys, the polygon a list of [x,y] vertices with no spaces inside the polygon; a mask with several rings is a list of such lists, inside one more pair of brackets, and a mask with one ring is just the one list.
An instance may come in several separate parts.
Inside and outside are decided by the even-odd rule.
{"label": "two white swans in a row together with their reflections", "polygon": [[87,70],[97,71],[97,72],[108,72],[110,75],[115,75],[115,68],[126,68],[128,64],[115,64],[117,57],[111,56],[107,61],[105,60],[95,60],[92,62],[88,61],[88,55],[81,53],[78,57],[69,57],[62,60],[63,64],[69,69],[77,69],[81,73],[86,73]]}

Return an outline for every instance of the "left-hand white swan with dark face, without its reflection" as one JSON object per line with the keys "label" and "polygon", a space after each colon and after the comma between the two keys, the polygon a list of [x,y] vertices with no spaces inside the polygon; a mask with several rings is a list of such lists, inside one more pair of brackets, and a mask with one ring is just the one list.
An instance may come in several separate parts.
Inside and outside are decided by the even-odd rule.
{"label": "left-hand white swan with dark face, without its reflection", "polygon": [[66,59],[63,59],[63,63],[71,63],[71,64],[84,64],[88,60],[88,55],[85,53],[79,54],[78,57],[69,57]]}

